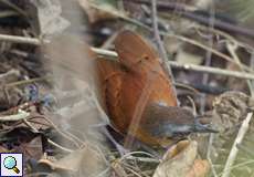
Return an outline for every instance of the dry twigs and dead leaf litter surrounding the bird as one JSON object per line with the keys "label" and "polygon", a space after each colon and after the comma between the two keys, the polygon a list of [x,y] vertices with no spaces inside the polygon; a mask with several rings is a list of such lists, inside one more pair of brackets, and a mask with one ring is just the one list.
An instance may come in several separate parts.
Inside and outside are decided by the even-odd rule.
{"label": "dry twigs and dead leaf litter surrounding the bird", "polygon": [[[252,176],[252,0],[0,0],[1,153],[23,153],[25,176]],[[154,148],[112,126],[95,61],[119,61],[115,40],[124,30],[156,49],[178,106],[195,110],[219,133]],[[142,114],[140,95],[134,117]]]}

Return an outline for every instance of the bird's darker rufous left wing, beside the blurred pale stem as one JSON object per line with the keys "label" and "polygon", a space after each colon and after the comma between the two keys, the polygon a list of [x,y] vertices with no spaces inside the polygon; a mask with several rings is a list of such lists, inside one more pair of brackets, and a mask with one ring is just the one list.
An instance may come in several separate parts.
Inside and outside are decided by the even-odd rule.
{"label": "bird's darker rufous left wing, beside the blurred pale stem", "polygon": [[97,61],[103,106],[117,131],[125,133],[129,119],[123,112],[123,77],[125,71],[116,61]]}

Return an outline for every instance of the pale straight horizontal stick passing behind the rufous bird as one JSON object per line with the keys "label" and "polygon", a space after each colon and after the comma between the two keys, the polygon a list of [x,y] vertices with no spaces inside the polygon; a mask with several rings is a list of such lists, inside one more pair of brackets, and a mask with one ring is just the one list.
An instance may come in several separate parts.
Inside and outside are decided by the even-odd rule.
{"label": "pale straight horizontal stick passing behind the rufous bird", "polygon": [[[97,48],[92,48],[92,50],[98,55],[109,56],[107,58],[108,60],[116,60],[116,58],[118,56],[117,53],[114,51],[102,50]],[[102,60],[105,60],[105,58]],[[168,64],[170,64],[172,67],[188,70],[188,71],[205,72],[210,74],[219,74],[219,75],[225,75],[225,76],[234,76],[239,79],[254,80],[254,74],[243,73],[243,72],[237,72],[237,71],[227,71],[223,69],[201,66],[201,65],[195,65],[195,64],[182,64],[182,63],[178,63],[173,61],[169,61]]]}

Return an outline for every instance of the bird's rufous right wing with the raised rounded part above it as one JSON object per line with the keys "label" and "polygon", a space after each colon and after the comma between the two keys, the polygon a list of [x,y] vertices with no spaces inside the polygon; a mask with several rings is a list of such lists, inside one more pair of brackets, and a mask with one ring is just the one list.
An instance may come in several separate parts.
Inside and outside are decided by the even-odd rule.
{"label": "bird's rufous right wing with the raised rounded part above it", "polygon": [[[123,31],[116,38],[115,48],[120,64],[127,69],[121,77],[119,104],[125,118],[128,119],[126,125],[138,126],[141,118],[145,118],[140,117],[144,111],[140,107],[146,107],[147,104],[161,102],[169,106],[177,105],[172,84],[163,72],[156,51],[141,37],[131,31]],[[144,96],[142,93],[149,93],[149,96]],[[140,97],[147,98],[140,101]],[[127,131],[128,126],[125,128]],[[149,144],[154,139],[138,127],[135,136]]]}

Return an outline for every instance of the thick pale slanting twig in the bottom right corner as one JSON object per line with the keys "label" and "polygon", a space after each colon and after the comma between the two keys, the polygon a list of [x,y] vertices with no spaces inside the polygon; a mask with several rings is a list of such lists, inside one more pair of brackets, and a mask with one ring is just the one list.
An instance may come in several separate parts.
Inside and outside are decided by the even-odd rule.
{"label": "thick pale slanting twig in the bottom right corner", "polygon": [[247,113],[246,118],[243,121],[242,126],[239,129],[239,134],[234,140],[234,144],[232,146],[232,149],[231,149],[230,155],[227,157],[227,160],[225,163],[225,167],[223,169],[222,177],[229,177],[230,176],[232,165],[234,164],[234,160],[235,160],[237,153],[239,153],[239,148],[236,146],[242,143],[244,135],[246,134],[246,132],[248,129],[248,124],[251,122],[252,116],[253,116],[253,113]]}

